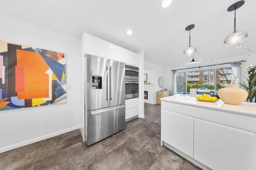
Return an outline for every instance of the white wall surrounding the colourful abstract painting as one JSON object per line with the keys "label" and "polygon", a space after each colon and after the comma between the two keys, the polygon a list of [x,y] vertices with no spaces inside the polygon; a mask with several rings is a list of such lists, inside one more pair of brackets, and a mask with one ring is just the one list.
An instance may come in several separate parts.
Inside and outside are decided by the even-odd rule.
{"label": "white wall surrounding the colourful abstract painting", "polygon": [[0,15],[0,40],[67,55],[66,104],[0,111],[0,152],[80,128],[80,41]]}

